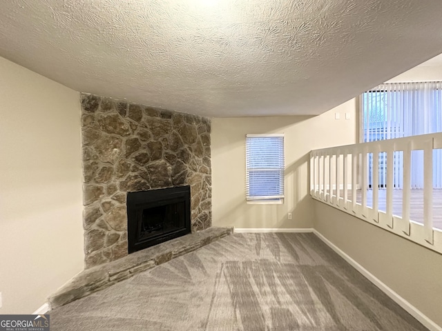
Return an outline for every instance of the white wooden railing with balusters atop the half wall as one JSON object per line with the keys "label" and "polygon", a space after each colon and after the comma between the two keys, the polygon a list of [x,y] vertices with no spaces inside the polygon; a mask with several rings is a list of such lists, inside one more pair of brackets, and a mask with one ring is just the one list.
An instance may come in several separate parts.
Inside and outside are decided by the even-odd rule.
{"label": "white wooden railing with balusters atop the half wall", "polygon": [[[311,197],[442,253],[442,229],[433,226],[433,150],[441,148],[442,133],[436,133],[312,150]],[[423,153],[423,157],[416,157],[418,153]],[[423,159],[423,166],[412,168],[412,155],[414,163]],[[398,160],[400,171],[394,164]],[[418,201],[423,212],[420,221],[410,219],[412,169],[423,171],[423,199],[421,203]],[[380,172],[385,176],[385,184],[381,185]],[[401,190],[396,190],[395,195],[402,198],[398,212],[401,216],[394,214],[393,209],[398,177],[401,177]],[[381,190],[385,194],[385,210],[379,210]],[[367,197],[372,201],[369,205]]]}

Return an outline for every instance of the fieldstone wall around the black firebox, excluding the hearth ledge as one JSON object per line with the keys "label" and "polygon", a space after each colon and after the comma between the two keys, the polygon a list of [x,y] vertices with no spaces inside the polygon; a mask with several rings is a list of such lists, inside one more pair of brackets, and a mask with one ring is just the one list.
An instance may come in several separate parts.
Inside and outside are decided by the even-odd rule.
{"label": "fieldstone wall around the black firebox, excluding the hearth ledge", "polygon": [[191,185],[191,230],[211,227],[209,119],[81,94],[86,268],[128,254],[127,192]]}

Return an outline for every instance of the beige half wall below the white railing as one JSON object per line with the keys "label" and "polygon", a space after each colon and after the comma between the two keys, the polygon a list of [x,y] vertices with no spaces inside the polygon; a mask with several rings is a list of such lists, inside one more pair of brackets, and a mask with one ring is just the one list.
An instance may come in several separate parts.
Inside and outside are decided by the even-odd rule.
{"label": "beige half wall below the white railing", "polygon": [[442,325],[442,255],[314,201],[314,228]]}

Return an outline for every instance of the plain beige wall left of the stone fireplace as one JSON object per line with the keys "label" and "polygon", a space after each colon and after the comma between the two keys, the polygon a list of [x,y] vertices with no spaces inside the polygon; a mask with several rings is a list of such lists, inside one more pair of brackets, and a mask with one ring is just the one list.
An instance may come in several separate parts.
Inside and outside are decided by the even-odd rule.
{"label": "plain beige wall left of the stone fireplace", "polygon": [[83,269],[79,94],[0,58],[0,314]]}

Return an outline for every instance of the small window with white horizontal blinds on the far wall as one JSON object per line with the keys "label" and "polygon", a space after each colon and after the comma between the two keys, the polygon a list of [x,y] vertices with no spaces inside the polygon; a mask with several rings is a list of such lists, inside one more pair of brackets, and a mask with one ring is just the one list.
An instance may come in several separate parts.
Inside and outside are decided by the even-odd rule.
{"label": "small window with white horizontal blinds on the far wall", "polygon": [[246,182],[247,201],[282,203],[284,134],[247,134]]}

